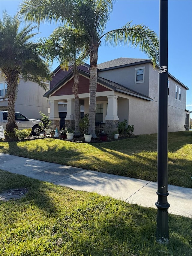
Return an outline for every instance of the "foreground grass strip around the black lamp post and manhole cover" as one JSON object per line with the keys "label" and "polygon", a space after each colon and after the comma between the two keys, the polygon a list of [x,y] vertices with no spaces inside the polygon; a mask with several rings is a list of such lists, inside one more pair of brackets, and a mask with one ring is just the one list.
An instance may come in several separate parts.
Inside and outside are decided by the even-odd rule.
{"label": "foreground grass strip around the black lamp post and manhole cover", "polygon": [[[52,140],[50,140],[52,142]],[[156,242],[157,209],[0,170],[1,256],[191,256],[191,219],[169,214],[168,245]]]}

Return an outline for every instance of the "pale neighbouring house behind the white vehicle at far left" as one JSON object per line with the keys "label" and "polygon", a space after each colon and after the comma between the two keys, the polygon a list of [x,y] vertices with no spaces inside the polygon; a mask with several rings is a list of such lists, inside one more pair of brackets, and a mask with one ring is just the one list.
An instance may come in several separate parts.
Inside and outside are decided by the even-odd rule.
{"label": "pale neighbouring house behind the white vehicle at far left", "polygon": [[[47,83],[49,87],[49,83]],[[7,110],[7,99],[4,99],[7,85],[4,77],[0,73],[0,110]],[[18,93],[15,103],[15,111],[22,113],[24,116],[32,119],[41,118],[39,111],[48,116],[50,113],[49,100],[43,98],[45,91],[37,84],[31,81],[27,83],[20,78]]]}

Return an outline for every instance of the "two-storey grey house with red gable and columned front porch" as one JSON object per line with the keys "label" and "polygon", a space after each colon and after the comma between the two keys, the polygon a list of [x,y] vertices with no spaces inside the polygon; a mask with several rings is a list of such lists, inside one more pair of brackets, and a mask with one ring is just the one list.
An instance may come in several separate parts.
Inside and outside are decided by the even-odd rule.
{"label": "two-storey grey house with red gable and columned front porch", "polygon": [[[79,67],[79,103],[84,113],[89,111],[89,67]],[[60,120],[62,124],[74,122],[72,85],[70,69],[62,71],[58,67],[53,71],[50,90],[44,97],[51,103],[50,119],[55,127],[61,128]],[[168,73],[168,132],[189,127],[187,89]],[[134,134],[157,133],[158,68],[153,68],[150,59],[119,58],[98,64],[96,101],[96,122],[116,130],[118,122],[127,119],[134,125]]]}

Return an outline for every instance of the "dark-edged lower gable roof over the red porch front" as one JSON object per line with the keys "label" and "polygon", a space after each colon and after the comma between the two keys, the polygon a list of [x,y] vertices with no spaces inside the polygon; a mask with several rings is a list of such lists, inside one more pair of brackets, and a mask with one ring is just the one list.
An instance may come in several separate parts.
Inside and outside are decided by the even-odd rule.
{"label": "dark-edged lower gable roof over the red porch front", "polygon": [[[89,79],[90,74],[88,72],[79,70],[79,74],[81,74],[81,75],[83,75],[83,76],[85,76]],[[71,77],[73,77],[73,72],[72,71],[66,77],[64,77],[59,83],[57,83],[55,86],[53,86],[48,92],[46,92],[43,95],[43,97],[49,97],[60,86],[62,86],[62,84],[66,83],[67,80],[69,80]],[[136,97],[136,98],[141,98],[141,99],[147,100],[147,101],[153,101],[152,98],[150,98],[146,95],[143,95],[139,92],[136,92],[132,89],[129,89],[129,88],[127,88],[127,87],[125,87],[121,84],[118,84],[118,83],[115,83],[113,81],[107,80],[103,77],[97,77],[97,82],[109,87],[110,89],[113,89],[116,92],[124,93],[124,94],[130,95],[130,96]]]}

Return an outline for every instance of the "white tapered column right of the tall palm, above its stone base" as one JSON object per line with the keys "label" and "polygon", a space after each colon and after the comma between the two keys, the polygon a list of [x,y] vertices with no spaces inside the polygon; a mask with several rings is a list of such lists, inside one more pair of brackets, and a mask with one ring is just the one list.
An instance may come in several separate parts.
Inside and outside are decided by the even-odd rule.
{"label": "white tapered column right of the tall palm, above its stone base", "polygon": [[117,115],[117,96],[111,95],[107,96],[108,105],[107,105],[107,116],[105,120],[119,120]]}

